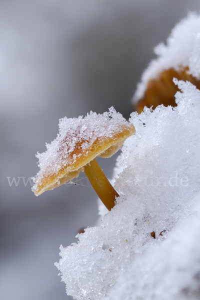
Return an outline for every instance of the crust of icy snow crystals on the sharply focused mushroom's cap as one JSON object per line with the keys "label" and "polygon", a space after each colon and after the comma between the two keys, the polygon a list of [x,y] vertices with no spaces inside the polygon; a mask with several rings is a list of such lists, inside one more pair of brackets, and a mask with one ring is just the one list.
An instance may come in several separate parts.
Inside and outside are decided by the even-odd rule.
{"label": "crust of icy snow crystals on the sharply focused mushroom's cap", "polygon": [[103,114],[90,111],[85,117],[59,119],[59,134],[50,144],[46,143],[47,150],[45,152],[36,155],[39,159],[40,170],[33,178],[35,184],[32,190],[35,191],[43,176],[56,174],[65,165],[70,169],[70,165],[72,166],[80,156],[80,153],[73,154],[71,159],[71,153],[75,148],[82,149],[87,155],[87,147],[96,138],[111,137],[113,132],[120,132],[122,130],[121,123],[124,122],[126,120],[113,107]]}

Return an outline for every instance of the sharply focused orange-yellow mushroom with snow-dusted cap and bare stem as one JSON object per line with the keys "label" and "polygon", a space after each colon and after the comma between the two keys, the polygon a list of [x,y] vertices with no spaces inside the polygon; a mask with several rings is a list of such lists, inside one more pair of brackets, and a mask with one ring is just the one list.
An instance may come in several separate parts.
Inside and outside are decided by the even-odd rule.
{"label": "sharply focused orange-yellow mushroom with snow-dusted cap and bare stem", "polygon": [[35,195],[78,177],[84,171],[97,195],[110,210],[118,193],[112,187],[95,158],[112,156],[124,140],[135,132],[113,107],[103,114],[90,113],[83,118],[59,120],[59,134],[39,158],[39,172],[33,178]]}

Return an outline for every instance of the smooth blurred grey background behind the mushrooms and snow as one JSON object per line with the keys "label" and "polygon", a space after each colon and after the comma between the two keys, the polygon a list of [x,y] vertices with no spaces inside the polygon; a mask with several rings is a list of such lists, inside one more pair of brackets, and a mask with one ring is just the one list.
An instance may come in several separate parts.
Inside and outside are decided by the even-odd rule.
{"label": "smooth blurred grey background behind the mushrooms and snow", "polygon": [[[84,173],[34,196],[35,153],[61,117],[113,105],[128,118],[153,47],[199,10],[199,0],[0,0],[1,300],[72,299],[53,263],[95,224],[97,196]],[[108,178],[116,157],[98,160]]]}

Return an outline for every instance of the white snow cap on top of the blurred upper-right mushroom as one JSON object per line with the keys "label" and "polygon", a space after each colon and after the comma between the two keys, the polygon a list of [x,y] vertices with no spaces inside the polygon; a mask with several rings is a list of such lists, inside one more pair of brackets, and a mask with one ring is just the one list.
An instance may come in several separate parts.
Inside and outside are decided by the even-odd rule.
{"label": "white snow cap on top of the blurred upper-right mushroom", "polygon": [[189,13],[171,31],[166,44],[159,43],[154,52],[157,55],[141,76],[141,82],[132,98],[136,103],[143,95],[150,79],[170,67],[175,70],[188,67],[188,73],[200,79],[200,15]]}

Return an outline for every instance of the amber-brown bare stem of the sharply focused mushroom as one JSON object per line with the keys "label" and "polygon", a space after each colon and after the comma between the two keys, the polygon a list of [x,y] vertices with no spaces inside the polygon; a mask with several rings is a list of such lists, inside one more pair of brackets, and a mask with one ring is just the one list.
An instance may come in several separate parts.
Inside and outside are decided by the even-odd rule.
{"label": "amber-brown bare stem of the sharply focused mushroom", "polygon": [[111,210],[115,204],[115,197],[119,195],[109,183],[96,159],[91,160],[84,166],[84,172],[105,207]]}

